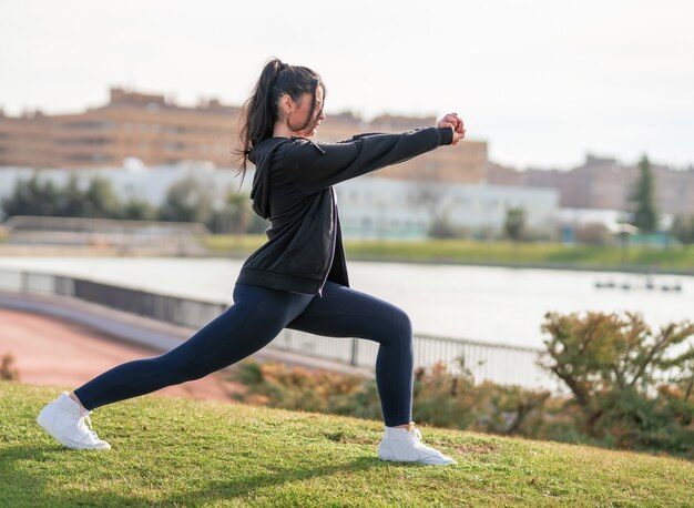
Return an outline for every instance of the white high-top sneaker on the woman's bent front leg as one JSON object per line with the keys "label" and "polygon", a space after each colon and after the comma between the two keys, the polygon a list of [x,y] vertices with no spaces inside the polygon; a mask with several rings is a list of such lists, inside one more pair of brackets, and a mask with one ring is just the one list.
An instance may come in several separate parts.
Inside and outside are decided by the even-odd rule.
{"label": "white high-top sneaker on the woman's bent front leg", "polygon": [[385,427],[385,435],[378,445],[378,458],[397,463],[421,463],[432,466],[458,464],[439,450],[421,443],[421,433],[414,423],[407,428]]}

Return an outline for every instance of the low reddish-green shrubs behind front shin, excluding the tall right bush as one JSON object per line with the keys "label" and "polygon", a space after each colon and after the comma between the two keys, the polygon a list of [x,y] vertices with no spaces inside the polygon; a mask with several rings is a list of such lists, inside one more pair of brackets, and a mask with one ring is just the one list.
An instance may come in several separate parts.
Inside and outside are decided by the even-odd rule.
{"label": "low reddish-green shrubs behind front shin, excluding the tall right bush", "polygon": [[[232,377],[248,386],[234,395],[246,403],[382,418],[374,379],[253,360],[239,363]],[[474,386],[467,369],[452,374],[437,363],[415,370],[412,417],[438,427],[539,437],[538,413],[549,395],[492,383]]]}

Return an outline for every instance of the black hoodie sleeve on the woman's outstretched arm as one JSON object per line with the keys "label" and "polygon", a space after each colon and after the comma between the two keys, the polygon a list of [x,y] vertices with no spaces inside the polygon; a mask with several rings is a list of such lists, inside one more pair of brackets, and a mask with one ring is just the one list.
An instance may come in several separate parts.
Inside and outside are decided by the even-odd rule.
{"label": "black hoodie sleeve on the woman's outstretched arm", "polygon": [[298,139],[285,153],[289,180],[305,194],[408,161],[437,146],[451,144],[450,128],[418,128],[401,134],[366,133],[336,143]]}

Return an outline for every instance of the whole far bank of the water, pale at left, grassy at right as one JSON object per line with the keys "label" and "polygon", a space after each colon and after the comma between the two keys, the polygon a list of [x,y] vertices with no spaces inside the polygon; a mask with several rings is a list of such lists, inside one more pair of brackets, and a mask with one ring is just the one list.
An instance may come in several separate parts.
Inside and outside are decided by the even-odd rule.
{"label": "whole far bank of the water, pale at left, grassy at right", "polygon": [[[0,242],[1,256],[224,257],[245,260],[265,243],[264,234],[210,235],[206,254],[116,246],[12,245]],[[510,268],[694,275],[694,245],[584,246],[561,243],[473,242],[465,240],[345,240],[347,258],[390,263]]]}

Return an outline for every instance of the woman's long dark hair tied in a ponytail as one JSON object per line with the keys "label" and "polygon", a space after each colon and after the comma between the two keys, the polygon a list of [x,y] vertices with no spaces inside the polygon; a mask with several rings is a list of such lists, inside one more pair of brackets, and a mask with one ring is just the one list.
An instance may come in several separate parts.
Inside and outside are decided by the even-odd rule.
{"label": "woman's long dark hair tied in a ponytail", "polygon": [[312,121],[317,121],[313,120],[313,115],[316,110],[316,89],[318,87],[323,88],[325,102],[326,89],[318,73],[307,67],[289,65],[277,58],[273,58],[265,64],[253,94],[244,102],[237,116],[239,149],[234,152],[238,154],[236,160],[242,160],[242,164],[236,175],[241,173],[245,176],[248,154],[261,141],[273,136],[275,122],[279,119],[278,103],[280,96],[289,94],[297,102],[304,93],[310,93],[313,96],[310,114],[306,124],[298,129],[293,129],[287,124],[289,130],[299,132],[308,128]]}

